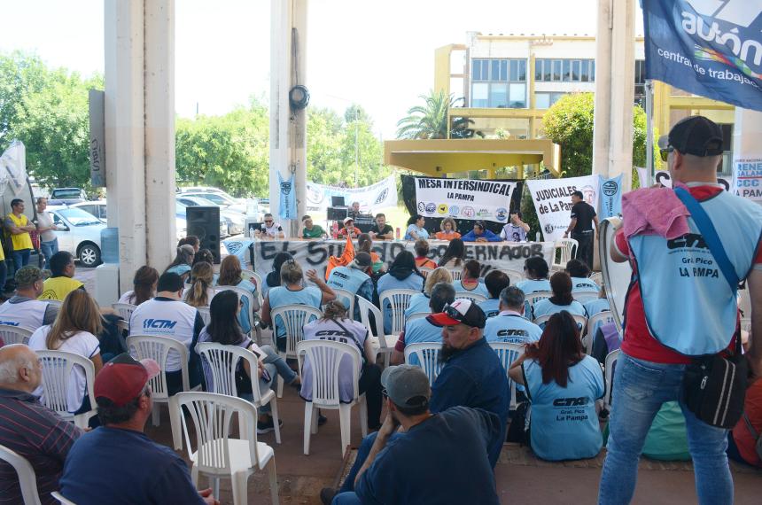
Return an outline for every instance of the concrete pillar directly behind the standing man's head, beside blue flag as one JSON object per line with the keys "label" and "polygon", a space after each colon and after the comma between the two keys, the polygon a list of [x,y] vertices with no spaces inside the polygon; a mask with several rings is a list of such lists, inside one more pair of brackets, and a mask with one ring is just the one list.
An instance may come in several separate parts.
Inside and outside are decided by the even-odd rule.
{"label": "concrete pillar directly behind the standing man's head, beside blue flag", "polygon": [[595,58],[593,174],[622,174],[632,187],[634,105],[633,0],[599,0]]}

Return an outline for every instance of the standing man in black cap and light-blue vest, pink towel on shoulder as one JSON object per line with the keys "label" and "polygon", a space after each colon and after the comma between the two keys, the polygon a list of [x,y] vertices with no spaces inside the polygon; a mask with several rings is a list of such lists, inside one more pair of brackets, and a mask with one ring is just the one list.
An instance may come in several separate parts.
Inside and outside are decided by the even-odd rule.
{"label": "standing man in black cap and light-blue vest, pink towel on shoulder", "polygon": [[[617,230],[610,248],[612,260],[629,260],[634,282],[626,297],[627,324],[613,381],[611,436],[599,503],[632,500],[646,434],[662,404],[673,400],[680,402],[685,415],[698,501],[734,501],[727,430],[696,417],[681,392],[686,366],[693,357],[735,352],[738,307],[731,288],[735,278],[728,281],[728,277],[746,278],[750,334],[757,341],[745,356],[752,374],[762,376],[762,207],[717,183],[722,145],[722,130],[711,120],[701,116],[680,120],[669,136],[659,140],[675,190],[649,188],[625,196],[632,201],[623,206],[625,223],[641,214],[637,208],[630,210],[640,195],[648,197],[643,204],[648,209],[654,205],[663,208],[649,214],[656,217],[656,222],[649,221],[656,233],[624,227]],[[711,243],[708,227],[705,223],[699,227],[701,218],[683,204],[692,199],[716,230],[729,259],[726,271],[721,268],[726,263],[718,261],[707,245]],[[678,221],[681,229],[676,233],[670,233],[673,227],[662,226],[665,214]]]}

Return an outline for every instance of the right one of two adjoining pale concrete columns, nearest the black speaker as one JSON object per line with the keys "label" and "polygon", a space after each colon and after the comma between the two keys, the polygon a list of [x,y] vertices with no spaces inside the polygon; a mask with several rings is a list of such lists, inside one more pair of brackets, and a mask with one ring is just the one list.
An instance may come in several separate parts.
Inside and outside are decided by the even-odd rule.
{"label": "right one of two adjoining pale concrete columns, nearest the black speaker", "polygon": [[145,233],[148,264],[175,252],[175,0],[145,0]]}

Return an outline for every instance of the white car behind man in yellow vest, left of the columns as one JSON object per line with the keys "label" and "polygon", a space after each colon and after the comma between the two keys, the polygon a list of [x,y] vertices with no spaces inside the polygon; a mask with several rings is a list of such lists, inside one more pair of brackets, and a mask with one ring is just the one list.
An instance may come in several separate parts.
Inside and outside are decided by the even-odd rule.
{"label": "white car behind man in yellow vest, left of the columns", "polygon": [[105,223],[74,206],[50,206],[48,212],[58,227],[58,250],[72,253],[83,267],[97,267],[100,264],[100,232],[105,229]]}

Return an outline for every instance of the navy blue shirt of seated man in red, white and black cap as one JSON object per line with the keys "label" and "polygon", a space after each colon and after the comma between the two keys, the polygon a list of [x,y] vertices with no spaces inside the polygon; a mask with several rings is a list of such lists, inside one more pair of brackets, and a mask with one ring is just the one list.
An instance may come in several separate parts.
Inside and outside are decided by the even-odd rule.
{"label": "navy blue shirt of seated man in red, white and black cap", "polygon": [[494,467],[505,440],[510,390],[500,358],[485,338],[453,355],[434,381],[432,412],[457,405],[484,408],[500,417],[502,438],[495,439],[489,447],[489,461]]}

